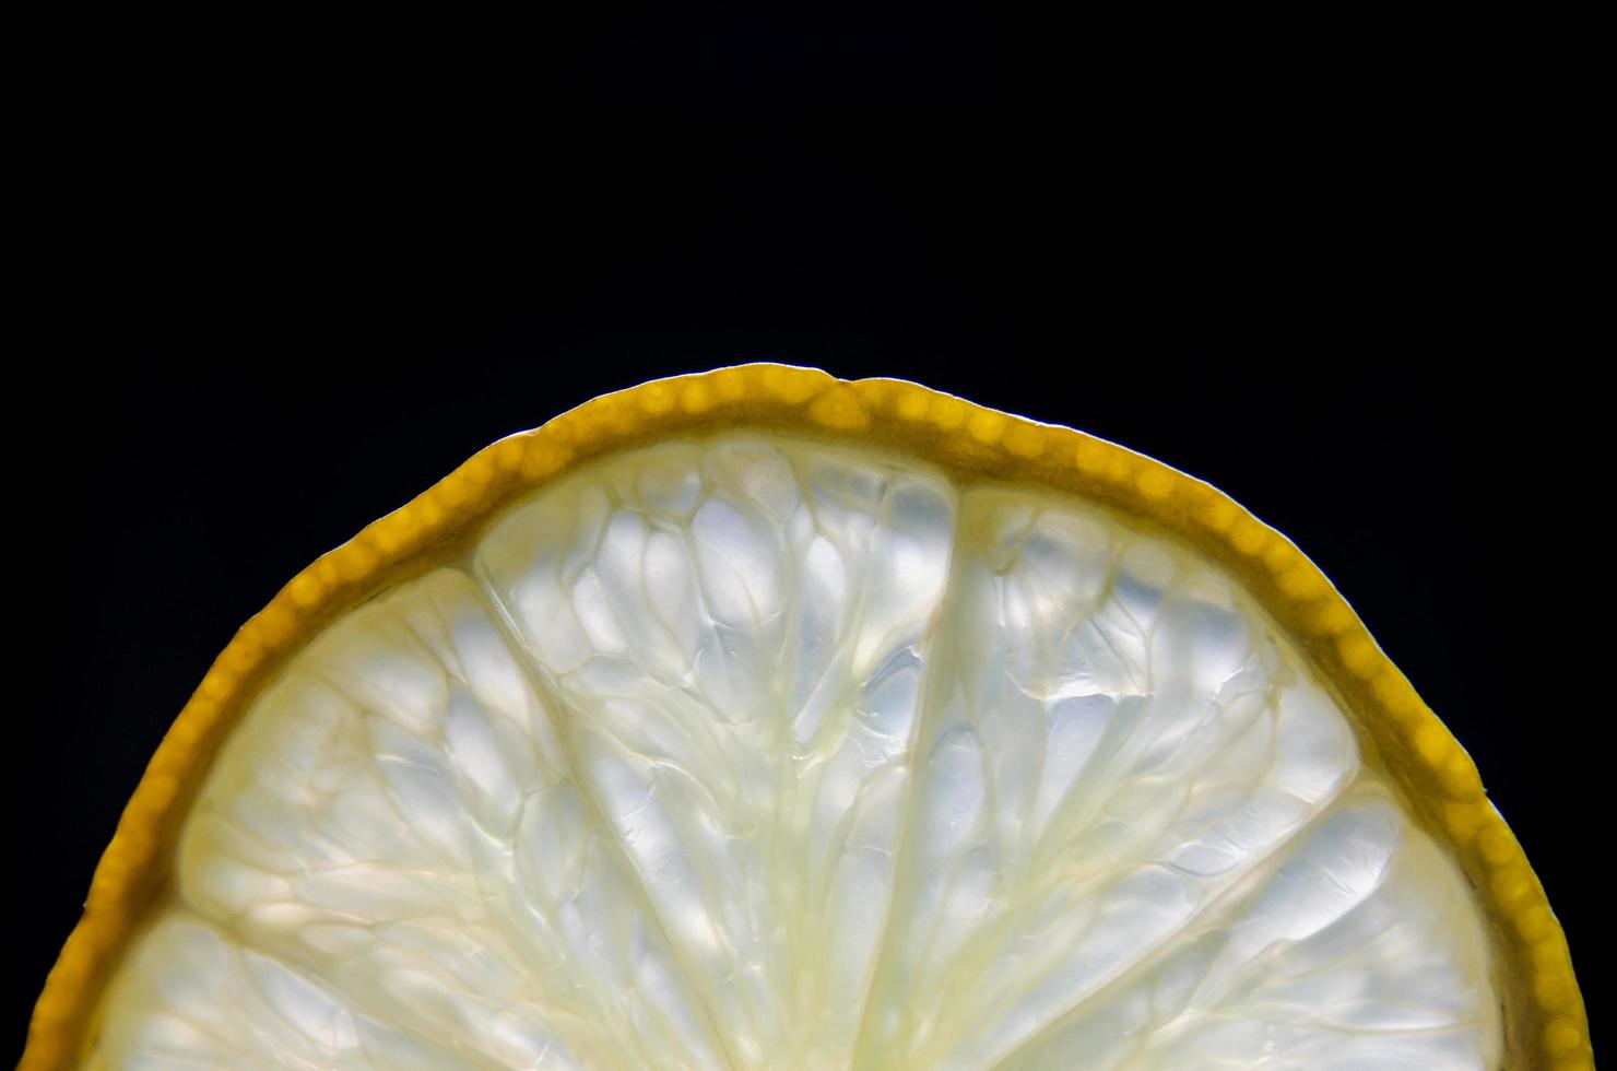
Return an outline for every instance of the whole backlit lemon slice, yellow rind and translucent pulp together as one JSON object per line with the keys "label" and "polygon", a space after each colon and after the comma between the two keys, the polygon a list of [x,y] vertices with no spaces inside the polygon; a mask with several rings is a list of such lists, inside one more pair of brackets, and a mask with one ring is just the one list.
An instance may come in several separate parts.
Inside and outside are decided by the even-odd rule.
{"label": "whole backlit lemon slice, yellow rind and translucent pulp together", "polygon": [[255,616],[26,1068],[1593,1068],[1329,582],[1155,461],[745,366],[503,440]]}

